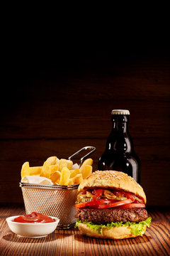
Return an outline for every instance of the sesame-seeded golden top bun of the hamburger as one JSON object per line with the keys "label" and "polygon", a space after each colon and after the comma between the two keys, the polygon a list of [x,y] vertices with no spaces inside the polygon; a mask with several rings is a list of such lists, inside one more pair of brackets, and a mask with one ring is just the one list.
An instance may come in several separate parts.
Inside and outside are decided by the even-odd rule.
{"label": "sesame-seeded golden top bun of the hamburger", "polygon": [[93,187],[123,189],[140,196],[145,203],[147,201],[142,186],[122,171],[95,171],[79,184],[78,191]]}

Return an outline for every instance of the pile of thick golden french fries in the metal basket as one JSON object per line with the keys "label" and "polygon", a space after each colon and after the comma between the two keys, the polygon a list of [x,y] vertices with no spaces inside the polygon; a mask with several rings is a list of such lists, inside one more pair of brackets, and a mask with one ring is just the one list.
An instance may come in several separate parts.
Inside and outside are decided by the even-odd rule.
{"label": "pile of thick golden french fries in the metal basket", "polygon": [[[93,159],[86,159],[81,167],[74,169],[73,162],[67,159],[58,159],[57,156],[50,156],[42,166],[30,167],[25,162],[21,169],[21,178],[25,176],[42,176],[50,178],[54,185],[68,186],[81,183],[92,173]],[[76,167],[77,167],[76,166]]]}

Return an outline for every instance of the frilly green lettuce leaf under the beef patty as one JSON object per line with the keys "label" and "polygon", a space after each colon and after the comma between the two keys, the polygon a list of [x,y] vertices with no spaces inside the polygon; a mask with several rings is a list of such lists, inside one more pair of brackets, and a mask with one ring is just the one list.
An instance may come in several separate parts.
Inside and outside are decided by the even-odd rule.
{"label": "frilly green lettuce leaf under the beef patty", "polygon": [[140,221],[140,223],[132,223],[130,221],[128,221],[127,223],[123,223],[122,221],[118,222],[118,223],[108,223],[106,225],[98,225],[98,224],[94,224],[91,222],[87,222],[87,221],[81,221],[79,219],[77,219],[77,223],[75,225],[75,228],[78,227],[79,223],[84,223],[86,224],[89,228],[91,228],[92,230],[97,231],[99,234],[103,235],[103,228],[113,228],[113,227],[126,227],[126,226],[130,226],[131,228],[131,232],[133,235],[143,235],[144,234],[144,228],[145,225],[147,225],[147,227],[149,227],[150,223],[151,223],[152,218],[147,218],[147,220],[143,220]]}

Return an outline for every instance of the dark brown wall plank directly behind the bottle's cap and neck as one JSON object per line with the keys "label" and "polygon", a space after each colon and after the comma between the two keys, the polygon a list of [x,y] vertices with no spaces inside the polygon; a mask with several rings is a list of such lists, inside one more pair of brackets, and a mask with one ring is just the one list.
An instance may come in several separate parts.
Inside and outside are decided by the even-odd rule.
{"label": "dark brown wall plank directly behind the bottle's cap and neck", "polygon": [[[79,106],[79,107],[78,107]],[[102,109],[101,109],[102,106]],[[91,102],[21,102],[1,116],[1,139],[100,138],[111,131],[111,110],[130,109],[134,138],[169,138],[169,102],[101,100]]]}

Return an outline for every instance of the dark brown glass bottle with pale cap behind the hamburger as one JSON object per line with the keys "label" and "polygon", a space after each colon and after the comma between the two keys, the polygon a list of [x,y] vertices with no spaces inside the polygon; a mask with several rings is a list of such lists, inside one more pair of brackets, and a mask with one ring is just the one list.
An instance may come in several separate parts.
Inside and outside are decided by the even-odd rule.
{"label": "dark brown glass bottle with pale cap behind the hamburger", "polygon": [[140,159],[128,131],[129,115],[128,110],[112,110],[113,127],[106,150],[98,160],[98,170],[123,171],[140,183]]}

